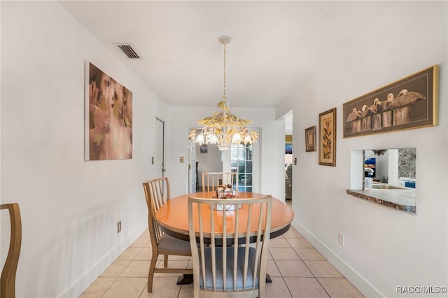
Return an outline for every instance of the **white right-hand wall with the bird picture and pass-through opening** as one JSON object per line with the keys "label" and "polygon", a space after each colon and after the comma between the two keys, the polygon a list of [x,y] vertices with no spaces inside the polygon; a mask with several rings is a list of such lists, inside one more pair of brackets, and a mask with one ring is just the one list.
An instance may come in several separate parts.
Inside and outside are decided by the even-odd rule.
{"label": "white right-hand wall with the bird picture and pass-through opening", "polygon": [[[276,114],[293,108],[295,227],[367,297],[405,297],[397,286],[448,281],[448,14],[446,1],[384,6],[370,27],[317,67]],[[344,102],[433,64],[440,65],[438,126],[342,139]],[[318,114],[334,107],[337,166],[320,166],[317,152],[304,151],[304,129],[318,125]],[[418,152],[416,214],[346,194],[351,150],[408,147]],[[345,236],[344,247],[338,232]]]}

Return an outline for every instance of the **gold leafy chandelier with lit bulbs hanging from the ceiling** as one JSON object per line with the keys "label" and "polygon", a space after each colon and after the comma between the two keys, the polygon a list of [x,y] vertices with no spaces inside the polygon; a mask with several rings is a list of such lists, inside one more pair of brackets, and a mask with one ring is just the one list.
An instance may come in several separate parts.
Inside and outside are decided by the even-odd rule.
{"label": "gold leafy chandelier with lit bulbs hanging from the ceiling", "polygon": [[247,127],[251,120],[241,119],[230,113],[229,102],[225,95],[225,45],[230,43],[230,36],[218,38],[224,45],[224,92],[221,95],[222,101],[216,105],[221,111],[215,111],[211,117],[198,120],[197,124],[201,128],[192,129],[189,139],[204,144],[216,144],[219,150],[229,150],[232,144],[252,144],[258,139],[258,132]]}

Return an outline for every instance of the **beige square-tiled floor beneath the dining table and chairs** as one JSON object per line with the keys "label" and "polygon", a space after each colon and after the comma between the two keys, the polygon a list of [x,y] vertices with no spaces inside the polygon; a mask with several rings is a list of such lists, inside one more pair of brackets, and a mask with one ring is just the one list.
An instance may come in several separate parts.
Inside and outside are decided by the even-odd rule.
{"label": "beige square-tiled floor beneath the dining table and chairs", "polygon": [[[149,240],[148,231],[141,234],[80,297],[193,297],[193,285],[176,285],[179,274],[155,274],[153,292],[147,292]],[[269,242],[269,253],[267,272],[272,283],[266,285],[266,297],[363,297],[293,227]],[[191,268],[189,257],[171,256],[168,262],[169,266]]]}

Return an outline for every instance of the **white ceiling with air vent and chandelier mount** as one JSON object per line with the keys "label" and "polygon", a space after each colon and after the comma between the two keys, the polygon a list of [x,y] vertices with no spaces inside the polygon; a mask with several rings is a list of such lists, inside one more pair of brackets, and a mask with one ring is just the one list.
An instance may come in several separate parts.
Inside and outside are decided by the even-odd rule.
{"label": "white ceiling with air vent and chandelier mount", "polygon": [[[60,1],[169,106],[274,107],[391,2]],[[128,59],[113,43],[132,43]],[[94,63],[94,62],[93,62]]]}

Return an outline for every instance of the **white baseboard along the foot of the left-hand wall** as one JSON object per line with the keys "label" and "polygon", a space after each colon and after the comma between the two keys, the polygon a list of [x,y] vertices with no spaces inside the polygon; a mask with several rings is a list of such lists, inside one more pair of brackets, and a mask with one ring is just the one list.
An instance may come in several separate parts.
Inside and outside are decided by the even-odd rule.
{"label": "white baseboard along the foot of the left-hand wall", "polygon": [[89,285],[91,285],[104,270],[109,267],[118,256],[123,253],[144,231],[148,229],[148,222],[141,223],[134,232],[126,236],[120,243],[111,248],[97,263],[87,269],[85,273],[74,281],[69,288],[59,294],[57,298],[62,297],[79,297]]}

